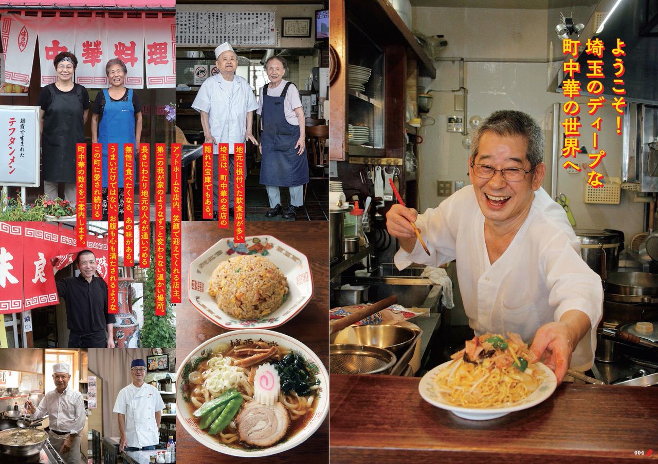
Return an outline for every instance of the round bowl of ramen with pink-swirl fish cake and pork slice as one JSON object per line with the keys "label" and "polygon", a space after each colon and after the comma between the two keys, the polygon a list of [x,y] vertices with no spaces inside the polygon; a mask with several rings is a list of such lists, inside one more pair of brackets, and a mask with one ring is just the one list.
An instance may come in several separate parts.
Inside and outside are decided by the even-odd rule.
{"label": "round bowl of ramen with pink-swirl fish cake and pork slice", "polygon": [[244,329],[198,346],[176,373],[176,415],[211,450],[261,457],[290,450],[322,425],[328,373],[282,333]]}

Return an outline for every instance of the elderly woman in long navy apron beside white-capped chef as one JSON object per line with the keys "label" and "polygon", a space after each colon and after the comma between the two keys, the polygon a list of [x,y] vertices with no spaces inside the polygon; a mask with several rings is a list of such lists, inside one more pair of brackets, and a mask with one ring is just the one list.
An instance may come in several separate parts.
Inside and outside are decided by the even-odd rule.
{"label": "elderly woman in long navy apron beside white-capped chef", "polygon": [[270,79],[261,91],[261,183],[270,200],[268,218],[282,214],[279,187],[290,188],[290,204],[282,218],[293,219],[304,204],[304,184],[309,181],[306,158],[304,111],[297,87],[283,79],[288,64],[283,57],[271,57],[265,62]]}

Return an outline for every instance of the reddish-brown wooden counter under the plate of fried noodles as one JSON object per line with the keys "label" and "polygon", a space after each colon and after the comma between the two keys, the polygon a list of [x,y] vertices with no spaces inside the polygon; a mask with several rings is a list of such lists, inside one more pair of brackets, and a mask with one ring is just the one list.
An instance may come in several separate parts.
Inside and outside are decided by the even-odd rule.
{"label": "reddish-brown wooden counter under the plate of fried noodles", "polygon": [[[625,463],[658,453],[658,389],[561,384],[542,404],[468,421],[425,402],[418,378],[330,376],[338,463]],[[636,451],[644,455],[636,455]]]}

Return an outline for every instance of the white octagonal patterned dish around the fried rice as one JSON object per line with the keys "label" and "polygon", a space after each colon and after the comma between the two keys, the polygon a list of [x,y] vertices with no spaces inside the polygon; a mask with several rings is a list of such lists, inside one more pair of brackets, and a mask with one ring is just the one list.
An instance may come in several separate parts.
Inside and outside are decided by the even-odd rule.
{"label": "white octagonal patterned dish around the fried rice", "polygon": [[[222,261],[240,254],[258,254],[275,264],[288,281],[288,296],[274,312],[261,319],[241,320],[217,307],[215,298],[208,294],[208,283],[215,267]],[[190,264],[188,296],[191,304],[205,317],[224,329],[272,329],[292,319],[313,296],[313,275],[309,260],[295,248],[271,235],[245,237],[236,246],[233,239],[221,239]]]}

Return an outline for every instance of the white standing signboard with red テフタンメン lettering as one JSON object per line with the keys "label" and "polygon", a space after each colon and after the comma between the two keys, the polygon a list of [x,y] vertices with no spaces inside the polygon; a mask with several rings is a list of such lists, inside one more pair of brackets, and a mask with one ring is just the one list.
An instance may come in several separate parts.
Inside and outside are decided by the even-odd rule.
{"label": "white standing signboard with red \u30c6\u30d5\u30bf\u30f3\u30e1\u30f3 lettering", "polygon": [[39,106],[0,105],[0,185],[39,187]]}

